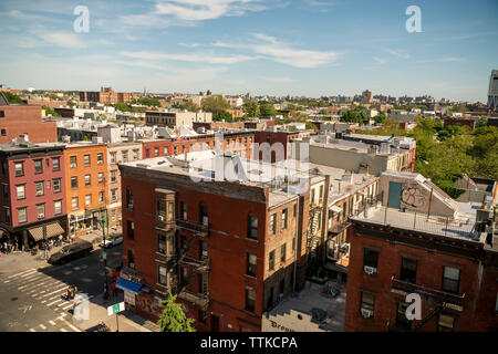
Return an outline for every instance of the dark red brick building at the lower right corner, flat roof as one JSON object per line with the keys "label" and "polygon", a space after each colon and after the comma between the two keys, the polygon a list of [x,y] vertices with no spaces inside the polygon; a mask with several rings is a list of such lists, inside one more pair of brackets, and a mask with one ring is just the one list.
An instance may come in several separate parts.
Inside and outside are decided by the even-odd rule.
{"label": "dark red brick building at the lower right corner, flat roof", "polygon": [[[498,329],[498,239],[489,210],[463,222],[424,214],[417,220],[384,207],[352,222],[345,331]],[[421,320],[405,315],[409,293],[421,296]]]}

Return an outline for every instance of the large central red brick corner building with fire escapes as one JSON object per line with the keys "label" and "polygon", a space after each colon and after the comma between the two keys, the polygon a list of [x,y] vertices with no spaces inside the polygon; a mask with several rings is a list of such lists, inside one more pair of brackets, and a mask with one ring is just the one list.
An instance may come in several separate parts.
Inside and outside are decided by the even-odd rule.
{"label": "large central red brick corner building with fire escapes", "polygon": [[199,331],[260,331],[262,313],[303,287],[309,194],[195,183],[156,160],[120,165],[123,264],[135,279],[125,301],[157,320],[172,290]]}

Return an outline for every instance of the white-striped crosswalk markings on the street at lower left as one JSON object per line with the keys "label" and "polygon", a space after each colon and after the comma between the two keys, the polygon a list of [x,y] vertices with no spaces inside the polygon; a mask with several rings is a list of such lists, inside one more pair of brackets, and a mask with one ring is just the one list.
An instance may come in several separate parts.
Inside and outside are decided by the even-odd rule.
{"label": "white-striped crosswalk markings on the street at lower left", "polygon": [[[65,319],[69,316],[69,310],[73,308],[73,301],[68,301],[62,298],[62,295],[66,293],[70,284],[51,278],[49,274],[39,272],[34,268],[17,274],[11,274],[0,281],[0,283],[1,282],[27,295],[30,295],[33,300],[37,300],[43,305],[55,311],[58,317],[50,320],[46,323],[40,323],[40,325],[30,329],[30,332],[53,331],[53,327],[61,325],[60,323],[58,324],[58,321],[64,323],[64,326],[60,327],[61,332],[81,332]],[[89,296],[89,299],[92,298],[93,295]]]}

